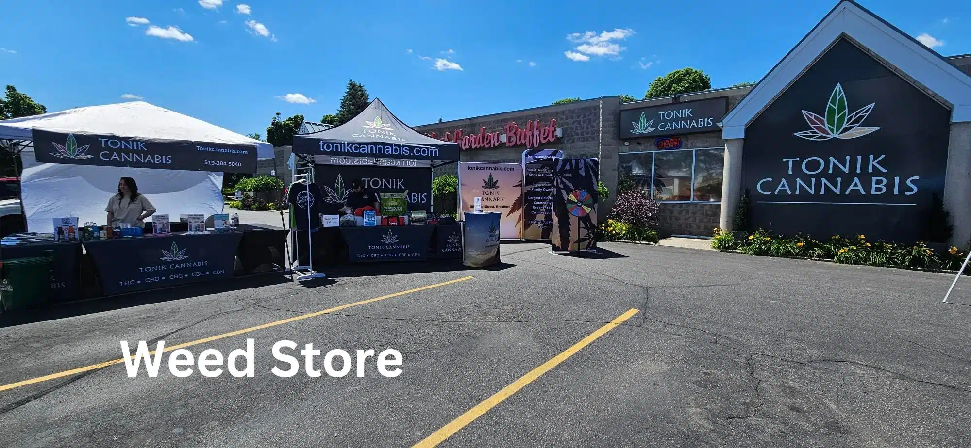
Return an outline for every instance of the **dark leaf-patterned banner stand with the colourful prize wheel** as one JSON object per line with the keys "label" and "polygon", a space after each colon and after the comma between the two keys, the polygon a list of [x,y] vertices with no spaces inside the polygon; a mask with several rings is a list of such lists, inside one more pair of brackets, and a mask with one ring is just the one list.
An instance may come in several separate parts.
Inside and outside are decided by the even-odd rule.
{"label": "dark leaf-patterned banner stand with the colourful prize wheel", "polygon": [[597,240],[597,159],[556,159],[552,197],[552,250],[594,250]]}

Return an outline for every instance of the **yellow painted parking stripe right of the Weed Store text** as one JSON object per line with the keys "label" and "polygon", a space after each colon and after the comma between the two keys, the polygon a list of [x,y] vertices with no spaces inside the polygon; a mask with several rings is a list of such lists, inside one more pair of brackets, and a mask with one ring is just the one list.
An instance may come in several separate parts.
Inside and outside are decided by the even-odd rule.
{"label": "yellow painted parking stripe right of the Weed Store text", "polygon": [[584,337],[580,342],[573,344],[572,347],[567,348],[563,353],[553,357],[552,360],[543,363],[542,366],[533,368],[528,373],[519,377],[519,379],[514,381],[513,384],[504,387],[501,391],[493,394],[492,397],[485,399],[485,401],[477,404],[476,407],[469,409],[464,414],[458,416],[458,418],[455,420],[452,420],[451,423],[442,427],[442,429],[433,432],[424,440],[417,443],[413,448],[431,448],[439,443],[442,443],[443,440],[449,438],[453,433],[458,432],[462,428],[465,428],[466,425],[472,423],[475,419],[479,418],[479,416],[485,414],[485,412],[487,412],[489,409],[495,407],[496,404],[499,404],[502,402],[502,400],[512,397],[513,394],[519,392],[519,389],[522,389],[527,384],[533,382],[533,380],[542,376],[543,373],[555,368],[557,365],[559,365],[559,363],[566,361],[567,358],[573,356],[574,353],[579,352],[580,349],[586,347],[586,345],[588,345],[590,342],[596,340],[597,337],[604,336],[607,332],[613,330],[615,327],[622,324],[627,319],[630,319],[631,316],[637,314],[638,312],[640,312],[639,309],[631,308],[627,312],[620,314],[617,319],[614,319],[609,324],[600,327],[597,329],[597,331],[591,333],[590,336]]}

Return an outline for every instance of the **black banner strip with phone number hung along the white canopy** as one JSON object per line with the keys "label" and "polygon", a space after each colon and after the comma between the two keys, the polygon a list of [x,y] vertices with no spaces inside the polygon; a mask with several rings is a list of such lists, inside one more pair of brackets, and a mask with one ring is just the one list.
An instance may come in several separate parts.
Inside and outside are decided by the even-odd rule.
{"label": "black banner strip with phone number hung along the white canopy", "polygon": [[33,130],[39,163],[255,173],[256,146]]}

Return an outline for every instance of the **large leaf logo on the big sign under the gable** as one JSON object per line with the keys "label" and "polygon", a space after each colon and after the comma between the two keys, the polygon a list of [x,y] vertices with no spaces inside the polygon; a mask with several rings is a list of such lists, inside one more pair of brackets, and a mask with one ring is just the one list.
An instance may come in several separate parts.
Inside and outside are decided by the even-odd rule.
{"label": "large leaf logo on the big sign under the gable", "polygon": [[863,137],[880,129],[876,126],[860,126],[876,105],[877,103],[870,103],[860,110],[848,114],[846,94],[843,93],[843,86],[837,83],[833,93],[829,95],[829,103],[826,104],[826,116],[822,117],[813,112],[803,111],[803,118],[806,118],[806,122],[813,129],[797,132],[794,135],[806,140],[820,142],[833,138],[848,140]]}

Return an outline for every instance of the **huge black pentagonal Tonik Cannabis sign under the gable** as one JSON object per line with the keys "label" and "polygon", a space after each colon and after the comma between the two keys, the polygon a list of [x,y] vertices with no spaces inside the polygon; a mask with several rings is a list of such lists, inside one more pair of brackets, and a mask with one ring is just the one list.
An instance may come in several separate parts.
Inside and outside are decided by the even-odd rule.
{"label": "huge black pentagonal Tonik Cannabis sign under the gable", "polygon": [[914,241],[943,197],[950,112],[840,41],[746,130],[752,226]]}

